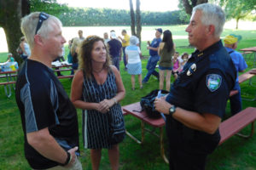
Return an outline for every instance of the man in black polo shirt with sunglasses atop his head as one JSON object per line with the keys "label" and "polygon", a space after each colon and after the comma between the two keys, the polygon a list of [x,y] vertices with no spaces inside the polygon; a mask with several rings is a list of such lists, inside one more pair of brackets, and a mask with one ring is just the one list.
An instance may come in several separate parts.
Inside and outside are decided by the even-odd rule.
{"label": "man in black polo shirt with sunglasses atop his head", "polygon": [[26,160],[33,169],[82,169],[79,156],[78,117],[64,88],[51,69],[66,42],[61,21],[45,13],[32,13],[21,21],[21,31],[32,54],[21,66],[16,102],[25,139]]}

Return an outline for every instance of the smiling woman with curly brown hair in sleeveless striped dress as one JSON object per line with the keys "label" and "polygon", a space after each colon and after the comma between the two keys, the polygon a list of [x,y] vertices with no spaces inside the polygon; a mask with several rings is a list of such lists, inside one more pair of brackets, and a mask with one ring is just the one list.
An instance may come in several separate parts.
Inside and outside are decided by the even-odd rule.
{"label": "smiling woman with curly brown hair in sleeveless striped dress", "polygon": [[109,65],[106,45],[101,37],[87,37],[79,49],[79,70],[71,88],[71,100],[83,110],[84,148],[90,149],[92,169],[99,169],[102,148],[108,149],[111,167],[119,167],[119,145],[109,142],[109,116],[124,123],[119,101],[125,88],[119,71]]}

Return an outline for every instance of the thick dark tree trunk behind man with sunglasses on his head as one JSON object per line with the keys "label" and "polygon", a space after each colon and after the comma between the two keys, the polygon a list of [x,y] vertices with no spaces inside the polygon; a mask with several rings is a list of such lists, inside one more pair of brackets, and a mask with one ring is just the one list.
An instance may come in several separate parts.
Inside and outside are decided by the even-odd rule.
{"label": "thick dark tree trunk behind man with sunglasses on his head", "polygon": [[[23,12],[22,8],[24,8]],[[0,26],[3,27],[9,53],[13,54],[18,63],[22,61],[16,52],[16,48],[20,45],[20,37],[22,37],[20,19],[27,12],[29,12],[28,0],[0,0]]]}

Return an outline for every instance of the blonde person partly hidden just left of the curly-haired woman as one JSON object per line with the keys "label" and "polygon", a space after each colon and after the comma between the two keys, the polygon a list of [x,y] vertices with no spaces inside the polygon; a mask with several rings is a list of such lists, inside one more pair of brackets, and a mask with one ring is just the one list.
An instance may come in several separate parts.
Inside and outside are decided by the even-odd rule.
{"label": "blonde person partly hidden just left of the curly-haired woman", "polygon": [[71,56],[72,56],[72,71],[71,71],[71,74],[73,75],[73,73],[75,71],[78,70],[78,67],[79,67],[79,59],[78,59],[78,52],[79,52],[79,45],[81,43],[81,40],[79,39],[79,37],[75,37],[73,38],[73,43],[72,43],[72,46],[71,46]]}

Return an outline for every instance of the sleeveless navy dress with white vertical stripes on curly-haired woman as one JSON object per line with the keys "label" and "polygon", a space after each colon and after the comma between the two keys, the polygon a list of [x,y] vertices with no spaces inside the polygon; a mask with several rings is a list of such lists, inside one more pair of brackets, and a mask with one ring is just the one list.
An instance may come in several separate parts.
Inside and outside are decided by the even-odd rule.
{"label": "sleeveless navy dress with white vertical stripes on curly-haired woman", "polygon": [[[96,82],[95,77],[85,77],[84,73],[84,87],[83,99],[86,102],[99,103],[103,99],[112,99],[117,94],[117,85],[115,83],[115,76],[113,71],[108,72],[106,81],[100,85]],[[112,116],[115,123],[124,122],[121,106],[113,105],[110,111],[102,114],[96,110],[83,110],[83,137],[84,148],[101,149],[111,148],[112,144],[109,142],[110,129],[108,116]]]}

